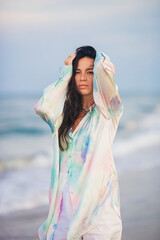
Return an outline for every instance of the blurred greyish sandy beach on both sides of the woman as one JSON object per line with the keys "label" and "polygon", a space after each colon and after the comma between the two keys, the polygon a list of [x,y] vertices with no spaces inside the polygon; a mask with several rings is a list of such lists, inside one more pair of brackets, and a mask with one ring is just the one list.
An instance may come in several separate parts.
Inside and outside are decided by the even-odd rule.
{"label": "blurred greyish sandy beach on both sides of the woman", "polygon": [[[122,240],[159,240],[160,168],[120,175]],[[0,216],[0,240],[38,240],[48,206]]]}

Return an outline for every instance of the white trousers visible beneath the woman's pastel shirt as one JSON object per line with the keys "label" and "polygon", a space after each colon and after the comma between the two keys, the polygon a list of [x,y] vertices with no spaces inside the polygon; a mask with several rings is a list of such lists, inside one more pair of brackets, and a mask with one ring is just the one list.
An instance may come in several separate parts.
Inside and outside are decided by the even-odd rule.
{"label": "white trousers visible beneath the woman's pastel shirt", "polygon": [[[73,213],[69,195],[69,182],[67,178],[63,191],[62,212],[57,222],[53,240],[67,240],[68,226]],[[114,232],[112,230],[113,227]],[[111,206],[110,199],[108,199],[104,205],[103,214],[101,215],[97,227],[77,240],[120,240],[121,235],[122,220]]]}

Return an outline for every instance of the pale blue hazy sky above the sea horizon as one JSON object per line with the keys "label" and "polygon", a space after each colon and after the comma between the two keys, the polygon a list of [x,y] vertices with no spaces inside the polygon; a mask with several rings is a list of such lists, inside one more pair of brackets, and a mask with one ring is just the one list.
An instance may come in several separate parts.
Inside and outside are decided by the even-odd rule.
{"label": "pale blue hazy sky above the sea horizon", "polygon": [[36,95],[77,47],[115,65],[119,91],[160,93],[159,0],[0,0],[0,95]]}

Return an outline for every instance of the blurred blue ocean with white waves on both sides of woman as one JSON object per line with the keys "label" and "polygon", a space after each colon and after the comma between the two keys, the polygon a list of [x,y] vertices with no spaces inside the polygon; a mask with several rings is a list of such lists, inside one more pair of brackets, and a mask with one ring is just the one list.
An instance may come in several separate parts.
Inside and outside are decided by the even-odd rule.
{"label": "blurred blue ocean with white waves on both sides of woman", "polygon": [[[160,96],[121,98],[124,113],[113,142],[118,175],[160,166]],[[0,99],[0,215],[48,204],[52,135],[34,111],[37,102]]]}

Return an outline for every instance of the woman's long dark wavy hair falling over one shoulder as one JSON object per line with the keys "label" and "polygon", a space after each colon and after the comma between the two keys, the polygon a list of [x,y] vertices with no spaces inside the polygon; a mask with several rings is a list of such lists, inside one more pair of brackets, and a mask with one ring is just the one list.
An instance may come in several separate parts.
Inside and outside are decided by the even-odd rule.
{"label": "woman's long dark wavy hair falling over one shoulder", "polygon": [[[83,107],[82,95],[78,92],[75,82],[75,72],[78,66],[79,59],[89,57],[95,59],[96,50],[91,46],[82,46],[76,49],[76,56],[72,61],[73,73],[68,83],[66,100],[63,107],[63,120],[58,130],[59,147],[61,151],[69,147],[68,130],[74,125]],[[66,144],[66,148],[63,146]]]}

